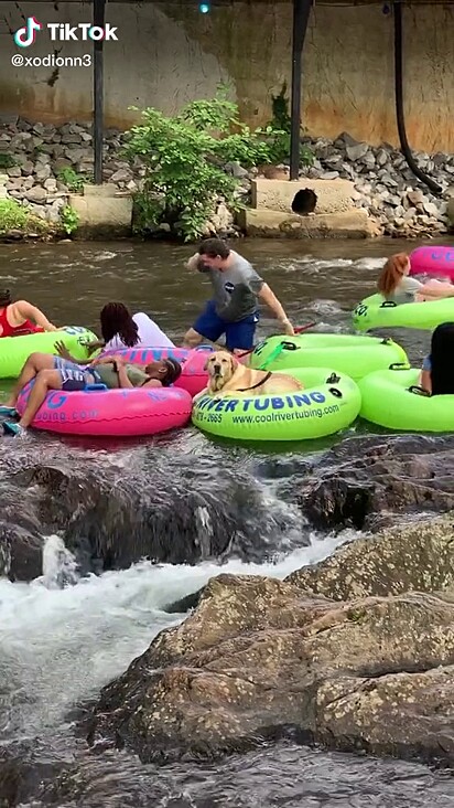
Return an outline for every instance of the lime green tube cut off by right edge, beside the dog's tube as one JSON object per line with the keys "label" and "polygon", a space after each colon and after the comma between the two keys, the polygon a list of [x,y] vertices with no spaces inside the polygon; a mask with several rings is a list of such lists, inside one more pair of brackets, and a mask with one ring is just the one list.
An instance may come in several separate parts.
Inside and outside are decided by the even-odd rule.
{"label": "lime green tube cut off by right edge, beside the dog's tube", "polygon": [[454,432],[454,395],[424,395],[420,373],[376,371],[361,379],[361,417],[399,432]]}

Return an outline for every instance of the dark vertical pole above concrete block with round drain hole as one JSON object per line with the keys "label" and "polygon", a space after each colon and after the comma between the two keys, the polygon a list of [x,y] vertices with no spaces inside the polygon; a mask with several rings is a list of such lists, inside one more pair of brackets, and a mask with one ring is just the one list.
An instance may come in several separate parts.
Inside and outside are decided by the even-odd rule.
{"label": "dark vertical pole above concrete block with round drain hole", "polygon": [[292,36],[292,100],[290,130],[290,179],[300,176],[300,131],[301,131],[301,72],[304,40],[311,13],[312,0],[293,0]]}

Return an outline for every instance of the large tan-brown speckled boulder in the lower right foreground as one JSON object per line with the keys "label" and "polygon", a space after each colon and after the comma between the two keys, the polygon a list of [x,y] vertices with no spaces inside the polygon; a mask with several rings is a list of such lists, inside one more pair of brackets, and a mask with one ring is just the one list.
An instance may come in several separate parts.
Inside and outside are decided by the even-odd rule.
{"label": "large tan-brown speckled boulder in the lower right foreground", "polygon": [[[452,524],[443,524],[447,544]],[[415,533],[408,531],[409,557]],[[399,581],[399,560],[393,571],[388,555],[386,563],[389,583]],[[415,583],[451,578],[439,570],[432,581],[428,571]],[[307,595],[295,576],[213,578],[193,614],[104,689],[88,740],[170,761],[241,749],[292,726],[336,748],[453,765],[454,596],[411,592],[410,567],[404,587],[335,602]]]}

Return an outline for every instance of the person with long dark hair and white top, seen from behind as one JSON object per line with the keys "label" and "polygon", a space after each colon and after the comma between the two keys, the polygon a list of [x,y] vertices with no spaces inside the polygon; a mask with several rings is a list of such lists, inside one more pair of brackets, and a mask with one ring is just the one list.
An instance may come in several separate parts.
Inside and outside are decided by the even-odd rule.
{"label": "person with long dark hair and white top, seen from behind", "polygon": [[88,351],[91,354],[98,348],[106,351],[121,348],[175,348],[169,337],[161,331],[154,320],[143,311],[132,315],[119,302],[108,302],[100,315],[101,340],[91,342]]}

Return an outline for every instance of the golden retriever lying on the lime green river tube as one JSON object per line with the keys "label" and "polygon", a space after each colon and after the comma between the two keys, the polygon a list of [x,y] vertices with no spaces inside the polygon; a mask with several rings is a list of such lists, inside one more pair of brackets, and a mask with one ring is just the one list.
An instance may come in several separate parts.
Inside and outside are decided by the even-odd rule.
{"label": "golden retriever lying on the lime green river tube", "polygon": [[194,396],[194,401],[203,395],[215,396],[226,393],[263,395],[294,393],[303,390],[303,385],[296,379],[285,373],[267,373],[267,371],[245,368],[236,357],[227,351],[212,353],[205,363],[205,370],[208,371],[208,386]]}

